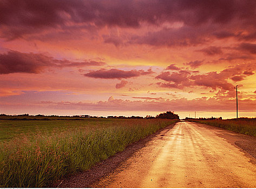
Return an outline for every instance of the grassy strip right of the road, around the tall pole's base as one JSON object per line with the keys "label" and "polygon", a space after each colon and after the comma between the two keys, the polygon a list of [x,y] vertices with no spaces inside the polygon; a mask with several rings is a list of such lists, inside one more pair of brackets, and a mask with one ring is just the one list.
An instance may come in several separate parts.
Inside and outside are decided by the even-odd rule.
{"label": "grassy strip right of the road, around the tall pole's base", "polygon": [[225,120],[199,120],[193,119],[192,122],[221,127],[222,129],[235,131],[256,137],[256,118],[238,118]]}

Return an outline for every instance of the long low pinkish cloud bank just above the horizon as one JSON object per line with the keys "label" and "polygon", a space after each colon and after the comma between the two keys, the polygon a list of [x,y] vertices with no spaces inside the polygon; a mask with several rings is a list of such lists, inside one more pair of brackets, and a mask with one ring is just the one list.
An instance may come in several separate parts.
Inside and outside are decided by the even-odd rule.
{"label": "long low pinkish cloud bank just above the horizon", "polygon": [[[235,91],[233,91],[235,97]],[[61,110],[97,110],[97,111],[235,111],[235,98],[231,100],[201,97],[164,99],[134,97],[142,100],[123,100],[109,97],[106,101],[95,103],[74,102],[41,102],[43,106]],[[240,111],[256,111],[256,100],[240,100]]]}

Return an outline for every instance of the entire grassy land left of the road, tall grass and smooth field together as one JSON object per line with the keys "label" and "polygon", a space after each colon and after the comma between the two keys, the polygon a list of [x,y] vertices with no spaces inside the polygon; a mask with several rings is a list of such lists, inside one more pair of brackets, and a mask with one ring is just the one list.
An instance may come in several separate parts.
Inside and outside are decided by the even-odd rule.
{"label": "entire grassy land left of the road, tall grass and smooth field together", "polygon": [[0,187],[47,187],[67,174],[87,170],[127,145],[178,121],[17,119],[1,116]]}

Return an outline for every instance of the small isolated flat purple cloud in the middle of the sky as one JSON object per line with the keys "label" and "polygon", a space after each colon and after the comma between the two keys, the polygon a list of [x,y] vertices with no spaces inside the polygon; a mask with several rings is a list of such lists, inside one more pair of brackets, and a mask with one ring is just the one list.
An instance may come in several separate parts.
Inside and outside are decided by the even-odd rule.
{"label": "small isolated flat purple cloud in the middle of the sky", "polygon": [[144,70],[130,70],[130,71],[123,71],[119,69],[101,69],[97,71],[91,71],[89,73],[84,74],[86,77],[92,78],[101,78],[101,79],[127,79],[132,77],[139,77],[143,75],[150,75],[154,73],[151,69],[147,71]]}

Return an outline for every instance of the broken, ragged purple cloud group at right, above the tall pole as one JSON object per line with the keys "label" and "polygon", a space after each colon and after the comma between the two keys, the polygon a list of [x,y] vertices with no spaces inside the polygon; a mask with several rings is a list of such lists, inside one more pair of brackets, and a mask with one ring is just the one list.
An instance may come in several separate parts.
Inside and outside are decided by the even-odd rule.
{"label": "broken, ragged purple cloud group at right, above the tall pole", "polygon": [[[233,90],[232,83],[229,82],[229,79],[234,82],[239,82],[246,79],[250,75],[245,75],[245,73],[250,73],[256,70],[254,63],[243,63],[237,64],[235,66],[229,66],[227,69],[224,69],[217,73],[207,72],[203,74],[193,73],[192,71],[180,70],[179,72],[162,72],[160,75],[156,76],[156,79],[162,79],[168,83],[157,82],[156,84],[160,87],[167,88],[176,88],[183,89],[184,87],[194,87],[202,86],[209,87],[213,90],[217,88],[229,91]],[[250,72],[247,72],[250,70]]]}

